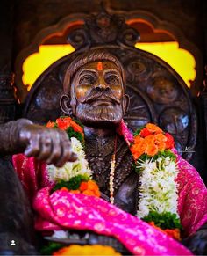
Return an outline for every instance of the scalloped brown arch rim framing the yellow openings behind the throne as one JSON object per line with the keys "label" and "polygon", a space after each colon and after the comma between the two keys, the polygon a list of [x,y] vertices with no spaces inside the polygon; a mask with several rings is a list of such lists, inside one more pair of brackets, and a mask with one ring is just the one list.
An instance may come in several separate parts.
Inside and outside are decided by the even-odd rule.
{"label": "scalloped brown arch rim framing the yellow openings behind the throne", "polygon": [[[163,30],[170,33],[173,37],[175,37],[175,40],[177,40],[179,43],[180,48],[189,50],[189,52],[194,55],[196,60],[196,79],[191,85],[190,91],[193,96],[197,95],[197,92],[200,89],[199,87],[202,86],[203,82],[203,57],[196,45],[187,39],[187,35],[182,33],[182,30],[178,26],[175,26],[175,24],[172,24],[166,20],[162,20],[150,11],[113,11],[109,6],[107,6],[107,10],[113,14],[121,15],[123,18],[125,17],[127,24],[131,24],[134,20],[146,20],[146,22],[153,26],[154,31]],[[82,26],[84,24],[84,20],[87,20],[90,16],[91,15],[85,13],[76,13],[68,15],[66,18],[62,18],[61,21],[56,25],[49,26],[41,30],[34,38],[31,45],[23,49],[18,54],[15,62],[15,69],[17,74],[16,84],[18,87],[18,99],[20,99],[21,102],[24,102],[27,95],[26,88],[23,86],[21,80],[23,75],[22,64],[25,61],[25,58],[32,53],[38,52],[39,45],[42,44],[46,38],[50,37],[51,34],[61,35],[61,33],[64,33],[64,31],[67,29],[70,30],[70,28],[73,29],[75,26]],[[78,36],[80,40],[80,34]]]}

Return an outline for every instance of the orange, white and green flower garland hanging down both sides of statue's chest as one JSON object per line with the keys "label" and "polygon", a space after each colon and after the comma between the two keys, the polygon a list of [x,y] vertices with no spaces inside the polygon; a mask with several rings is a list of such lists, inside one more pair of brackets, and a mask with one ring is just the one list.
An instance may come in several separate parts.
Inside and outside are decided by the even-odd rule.
{"label": "orange, white and green flower garland hanging down both sides of statue's chest", "polygon": [[[70,117],[61,117],[56,121],[49,121],[46,127],[65,130],[71,140],[72,150],[78,157],[74,163],[66,163],[61,168],[46,165],[49,179],[55,183],[53,191],[67,189],[71,193],[100,196],[85,157],[82,125]],[[177,212],[178,194],[175,182],[179,171],[175,154],[172,152],[173,137],[151,123],[139,128],[132,135],[125,122],[121,121],[117,132],[125,138],[134,158],[134,170],[139,173],[137,216],[180,240],[182,226]],[[111,203],[113,203],[114,172],[115,156],[113,155],[110,179]]]}

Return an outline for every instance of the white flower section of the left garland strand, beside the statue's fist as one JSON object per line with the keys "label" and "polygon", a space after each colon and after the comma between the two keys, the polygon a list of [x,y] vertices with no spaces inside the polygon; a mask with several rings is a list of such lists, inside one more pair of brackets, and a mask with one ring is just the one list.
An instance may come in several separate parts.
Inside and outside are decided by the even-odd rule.
{"label": "white flower section of the left garland strand, beside the statue's fist", "polygon": [[71,147],[73,152],[77,154],[77,160],[75,162],[67,162],[61,168],[54,165],[46,165],[46,170],[51,181],[68,181],[77,175],[87,175],[89,178],[92,177],[92,171],[90,170],[89,163],[85,158],[82,143],[80,143],[80,141],[75,137],[72,137]]}

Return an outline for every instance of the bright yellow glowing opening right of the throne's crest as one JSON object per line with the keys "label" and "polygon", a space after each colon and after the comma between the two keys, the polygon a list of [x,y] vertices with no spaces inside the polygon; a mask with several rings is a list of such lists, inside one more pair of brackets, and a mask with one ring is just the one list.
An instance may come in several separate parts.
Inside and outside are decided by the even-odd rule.
{"label": "bright yellow glowing opening right of the throne's crest", "polygon": [[157,55],[167,62],[190,87],[196,78],[196,61],[187,50],[179,48],[177,42],[137,43],[136,48]]}

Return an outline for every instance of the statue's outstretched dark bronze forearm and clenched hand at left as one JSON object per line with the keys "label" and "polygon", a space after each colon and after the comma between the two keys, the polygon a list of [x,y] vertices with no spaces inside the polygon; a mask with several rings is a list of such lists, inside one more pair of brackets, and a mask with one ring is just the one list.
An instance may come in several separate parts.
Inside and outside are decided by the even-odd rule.
{"label": "statue's outstretched dark bronze forearm and clenched hand at left", "polygon": [[76,159],[65,131],[39,126],[27,119],[0,125],[0,142],[1,155],[24,152],[27,157],[57,166]]}

